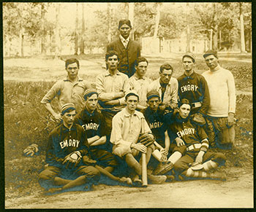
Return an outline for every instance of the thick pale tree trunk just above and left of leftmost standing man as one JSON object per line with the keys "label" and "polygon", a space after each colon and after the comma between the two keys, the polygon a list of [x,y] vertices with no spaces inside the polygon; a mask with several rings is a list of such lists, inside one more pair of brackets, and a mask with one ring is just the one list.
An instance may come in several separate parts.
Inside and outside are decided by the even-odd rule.
{"label": "thick pale tree trunk just above and left of leftmost standing man", "polygon": [[59,25],[59,12],[61,4],[56,3],[56,28],[55,28],[55,59],[58,59],[61,55],[61,36],[60,36],[60,25]]}

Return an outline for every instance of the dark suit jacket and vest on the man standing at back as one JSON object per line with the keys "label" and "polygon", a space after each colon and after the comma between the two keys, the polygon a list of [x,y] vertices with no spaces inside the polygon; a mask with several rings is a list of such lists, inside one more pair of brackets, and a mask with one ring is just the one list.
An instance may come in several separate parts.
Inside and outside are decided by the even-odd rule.
{"label": "dark suit jacket and vest on the man standing at back", "polygon": [[[135,60],[140,57],[140,44],[138,42],[129,40],[127,49],[124,48],[121,40],[118,38],[108,44],[107,51],[114,50],[118,52],[120,63],[118,70],[127,76],[135,74]],[[128,64],[128,66],[126,65]]]}

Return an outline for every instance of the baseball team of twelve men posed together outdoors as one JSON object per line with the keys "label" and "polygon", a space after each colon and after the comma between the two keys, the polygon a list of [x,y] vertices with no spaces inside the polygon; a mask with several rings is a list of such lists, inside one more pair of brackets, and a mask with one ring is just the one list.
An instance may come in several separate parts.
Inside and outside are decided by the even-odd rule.
{"label": "baseball team of twelve men posed together outdoors", "polygon": [[[173,77],[164,63],[159,78],[146,77],[148,60],[129,38],[129,20],[120,20],[120,37],[108,45],[106,71],[96,88],[78,76],[79,61],[66,60],[67,79],[56,82],[42,98],[59,121],[49,136],[48,166],[39,184],[50,192],[97,184],[100,173],[125,184],[140,185],[141,154],[146,154],[148,181],[162,184],[184,178],[224,179],[209,170],[225,164],[234,140],[236,90],[233,74],[219,66],[217,52],[203,55],[209,68],[194,71],[195,55],[182,57],[184,74]],[[58,113],[50,102],[59,99]],[[36,149],[29,146],[26,154]]]}

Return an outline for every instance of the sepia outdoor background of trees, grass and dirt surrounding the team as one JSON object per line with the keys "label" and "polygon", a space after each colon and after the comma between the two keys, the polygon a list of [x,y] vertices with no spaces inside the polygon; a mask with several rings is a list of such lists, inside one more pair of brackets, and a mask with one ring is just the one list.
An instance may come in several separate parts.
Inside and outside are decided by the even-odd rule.
{"label": "sepia outdoor background of trees, grass and dirt surrounding the team", "polygon": [[[4,162],[6,208],[252,208],[252,4],[223,3],[3,3]],[[94,86],[105,69],[107,44],[118,36],[118,20],[132,22],[132,39],[157,79],[169,62],[183,73],[184,52],[196,55],[196,71],[207,70],[203,52],[219,52],[236,82],[236,141],[219,168],[227,181],[184,181],[146,189],[98,185],[91,192],[42,195],[38,173],[54,123],[39,103],[66,76],[64,60],[80,60],[79,76]],[[53,102],[54,104],[54,102]],[[24,157],[29,144],[39,155]]]}

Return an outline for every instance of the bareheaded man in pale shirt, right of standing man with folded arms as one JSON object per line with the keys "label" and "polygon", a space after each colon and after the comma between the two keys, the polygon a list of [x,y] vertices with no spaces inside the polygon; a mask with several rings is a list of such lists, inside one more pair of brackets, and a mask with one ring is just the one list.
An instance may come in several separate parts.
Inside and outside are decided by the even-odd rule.
{"label": "bareheaded man in pale shirt, right of standing man with folded arms", "polygon": [[146,101],[148,85],[151,83],[151,79],[145,76],[148,68],[148,60],[146,58],[139,57],[135,60],[135,74],[129,78],[129,90],[135,90],[140,101],[138,103],[137,109],[146,109],[148,106]]}

